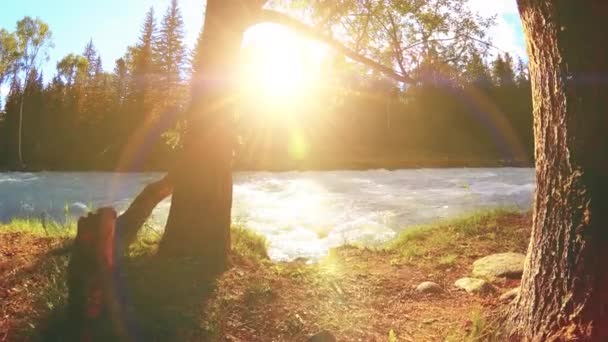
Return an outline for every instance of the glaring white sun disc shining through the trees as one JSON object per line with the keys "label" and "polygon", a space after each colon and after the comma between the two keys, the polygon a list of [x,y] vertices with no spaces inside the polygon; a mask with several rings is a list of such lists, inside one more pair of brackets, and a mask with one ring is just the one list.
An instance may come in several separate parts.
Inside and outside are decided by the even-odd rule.
{"label": "glaring white sun disc shining through the trees", "polygon": [[310,95],[325,47],[273,24],[250,29],[243,44],[241,85],[260,105],[294,104]]}

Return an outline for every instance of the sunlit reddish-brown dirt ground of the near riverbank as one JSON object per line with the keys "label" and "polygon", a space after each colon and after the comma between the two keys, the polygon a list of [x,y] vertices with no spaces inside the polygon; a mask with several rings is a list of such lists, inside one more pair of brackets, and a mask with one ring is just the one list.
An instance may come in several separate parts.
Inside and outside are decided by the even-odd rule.
{"label": "sunlit reddish-brown dirt ground of the near riverbank", "polygon": [[[530,216],[507,215],[496,224],[527,236]],[[392,331],[397,341],[461,341],[479,324],[476,312],[502,307],[500,294],[518,286],[518,280],[499,280],[496,291],[486,296],[454,288],[477,257],[504,252],[501,241],[478,240],[462,241],[469,252],[456,253],[441,265],[432,253],[412,261],[398,251],[358,247],[338,248],[310,265],[235,257],[205,300],[190,300],[189,307],[194,301],[202,315],[165,336],[305,341],[327,330],[338,341],[387,341]],[[0,233],[0,341],[27,339],[41,318],[65,301],[65,244],[27,233]],[[524,243],[518,246],[525,252]],[[424,281],[436,282],[443,292],[418,293],[415,287]]]}

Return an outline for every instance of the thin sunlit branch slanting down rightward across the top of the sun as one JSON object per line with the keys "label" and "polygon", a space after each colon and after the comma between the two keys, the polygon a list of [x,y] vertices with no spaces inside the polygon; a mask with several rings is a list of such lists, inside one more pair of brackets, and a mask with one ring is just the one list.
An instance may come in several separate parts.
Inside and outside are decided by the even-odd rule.
{"label": "thin sunlit branch slanting down rightward across the top of the sun", "polygon": [[386,75],[398,82],[403,82],[403,83],[413,83],[414,82],[414,79],[412,79],[409,75],[401,74],[401,73],[393,70],[392,68],[389,68],[385,65],[382,65],[382,64],[372,60],[371,58],[369,58],[367,56],[360,55],[360,54],[356,53],[355,51],[349,49],[348,47],[344,46],[342,43],[340,43],[333,37],[324,35],[323,33],[319,32],[317,29],[310,27],[310,26],[298,21],[297,19],[291,18],[290,16],[283,14],[281,12],[268,10],[268,9],[262,9],[257,13],[257,15],[253,19],[254,20],[251,23],[252,25],[255,25],[255,24],[258,24],[261,22],[271,22],[271,23],[275,23],[275,24],[284,25],[300,34],[303,34],[303,35],[310,37],[314,40],[317,40],[319,42],[325,43],[325,44],[329,45],[331,48],[333,48],[334,50],[336,50],[337,52],[352,59],[353,61],[365,64],[366,66],[368,66],[376,71],[379,71],[379,72],[383,73],[384,75]]}

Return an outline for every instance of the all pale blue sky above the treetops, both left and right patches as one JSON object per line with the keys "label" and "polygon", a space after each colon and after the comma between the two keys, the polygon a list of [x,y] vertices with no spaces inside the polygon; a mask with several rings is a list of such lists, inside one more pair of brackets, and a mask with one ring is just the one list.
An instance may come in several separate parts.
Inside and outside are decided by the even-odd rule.
{"label": "all pale blue sky above the treetops, both left and right patches", "polygon": [[[502,51],[525,57],[523,31],[515,0],[469,0],[470,6],[484,16],[497,14],[497,25],[490,32],[492,43]],[[15,29],[24,16],[39,17],[53,32],[54,48],[43,64],[48,80],[55,65],[69,53],[82,53],[93,39],[101,53],[104,69],[111,71],[114,61],[135,44],[146,11],[154,7],[157,21],[170,0],[0,0],[0,28]],[[185,43],[193,48],[203,22],[203,0],[178,0],[185,24]],[[0,89],[6,95],[7,86]]]}

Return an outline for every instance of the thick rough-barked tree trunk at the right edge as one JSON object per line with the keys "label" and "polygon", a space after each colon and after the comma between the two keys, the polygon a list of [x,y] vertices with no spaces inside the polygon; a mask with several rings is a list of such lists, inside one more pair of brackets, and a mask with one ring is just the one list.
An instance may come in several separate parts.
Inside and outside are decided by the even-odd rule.
{"label": "thick rough-barked tree trunk at the right edge", "polygon": [[537,190],[512,328],[529,341],[608,341],[608,1],[518,5]]}

